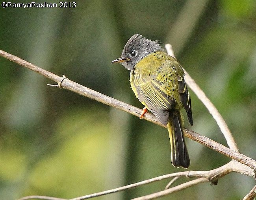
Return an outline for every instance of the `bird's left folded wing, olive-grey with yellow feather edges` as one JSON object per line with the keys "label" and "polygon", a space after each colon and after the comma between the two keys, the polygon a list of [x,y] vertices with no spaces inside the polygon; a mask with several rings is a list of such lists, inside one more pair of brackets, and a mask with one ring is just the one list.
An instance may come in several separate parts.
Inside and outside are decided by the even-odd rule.
{"label": "bird's left folded wing, olive-grey with yellow feather edges", "polygon": [[147,105],[148,109],[158,118],[158,120],[167,125],[169,121],[169,112],[174,101],[167,95],[161,82],[156,80],[156,75],[141,75],[134,73],[134,86],[137,91],[138,99]]}

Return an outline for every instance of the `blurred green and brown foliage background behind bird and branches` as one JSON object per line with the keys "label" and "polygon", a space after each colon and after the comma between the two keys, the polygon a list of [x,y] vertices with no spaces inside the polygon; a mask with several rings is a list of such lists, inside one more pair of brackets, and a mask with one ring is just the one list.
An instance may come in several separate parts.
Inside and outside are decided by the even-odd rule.
{"label": "blurred green and brown foliage background behind bird and branches", "polygon": [[[76,7],[68,8],[1,7],[0,49],[143,108],[130,89],[129,71],[111,61],[134,33],[171,43],[178,61],[223,115],[241,153],[256,159],[254,0],[74,2]],[[74,198],[184,170],[171,165],[166,129],[49,87],[46,83],[54,84],[49,79],[2,57],[0,70],[0,200]],[[186,127],[226,145],[193,92],[191,101],[194,126],[185,120]],[[230,161],[189,139],[187,146],[189,170]],[[168,182],[96,199],[135,198],[163,190]],[[253,178],[233,173],[217,186],[204,183],[161,199],[241,199],[254,184]]]}

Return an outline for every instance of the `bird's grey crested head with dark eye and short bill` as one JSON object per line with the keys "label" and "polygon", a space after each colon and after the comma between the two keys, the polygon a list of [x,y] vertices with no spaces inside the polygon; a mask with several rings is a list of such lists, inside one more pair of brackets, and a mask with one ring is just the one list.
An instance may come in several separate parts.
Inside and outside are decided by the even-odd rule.
{"label": "bird's grey crested head with dark eye and short bill", "polygon": [[121,62],[128,70],[133,70],[135,64],[150,53],[160,51],[161,46],[157,41],[149,40],[142,35],[133,35],[122,50],[121,58],[112,61]]}

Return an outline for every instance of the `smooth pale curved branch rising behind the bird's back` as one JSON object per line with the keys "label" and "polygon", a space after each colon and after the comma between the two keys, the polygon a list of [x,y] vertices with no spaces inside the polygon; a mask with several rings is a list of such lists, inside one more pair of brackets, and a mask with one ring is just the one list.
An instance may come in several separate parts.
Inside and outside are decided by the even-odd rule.
{"label": "smooth pale curved branch rising behind the bird's back", "polygon": [[[175,57],[171,44],[165,44],[165,48],[169,55]],[[232,136],[232,133],[230,132],[225,120],[223,119],[221,114],[218,112],[217,108],[213,105],[213,103],[211,103],[210,99],[208,99],[208,97],[206,97],[206,94],[195,83],[195,81],[186,72],[186,70],[184,70],[184,72],[185,72],[184,79],[186,81],[186,84],[189,86],[189,88],[191,88],[191,90],[197,95],[198,99],[200,99],[200,101],[202,101],[202,103],[209,110],[210,114],[213,116],[213,118],[217,122],[217,125],[221,129],[221,132],[223,133],[224,138],[226,139],[227,144],[230,147],[230,149],[232,149],[236,152],[239,152],[236,141],[235,141],[234,137]]]}

